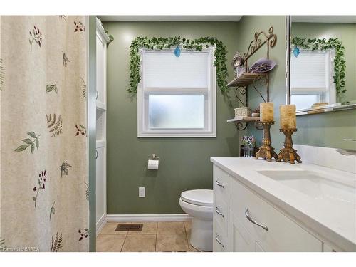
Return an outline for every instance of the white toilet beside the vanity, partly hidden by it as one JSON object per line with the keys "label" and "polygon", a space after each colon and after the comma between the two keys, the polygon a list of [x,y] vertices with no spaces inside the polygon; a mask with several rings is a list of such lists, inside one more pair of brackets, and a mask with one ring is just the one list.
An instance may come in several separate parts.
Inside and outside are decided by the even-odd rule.
{"label": "white toilet beside the vanity, partly hidden by it", "polygon": [[182,192],[179,205],[192,217],[190,244],[201,251],[213,250],[213,190]]}

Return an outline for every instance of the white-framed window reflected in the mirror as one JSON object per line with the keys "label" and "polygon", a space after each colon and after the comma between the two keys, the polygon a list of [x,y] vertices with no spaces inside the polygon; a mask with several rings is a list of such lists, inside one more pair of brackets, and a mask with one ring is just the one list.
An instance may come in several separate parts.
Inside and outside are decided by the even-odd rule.
{"label": "white-framed window reflected in the mirror", "polygon": [[314,103],[336,102],[333,82],[333,50],[301,50],[290,58],[290,102],[297,110],[311,108]]}

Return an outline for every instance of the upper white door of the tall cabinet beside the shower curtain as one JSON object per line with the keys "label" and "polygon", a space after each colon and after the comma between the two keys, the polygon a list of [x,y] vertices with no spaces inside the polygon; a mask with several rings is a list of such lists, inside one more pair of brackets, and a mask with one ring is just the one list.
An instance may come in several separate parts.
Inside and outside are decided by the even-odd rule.
{"label": "upper white door of the tall cabinet beside the shower curtain", "polygon": [[106,109],[106,41],[101,33],[96,31],[96,105]]}

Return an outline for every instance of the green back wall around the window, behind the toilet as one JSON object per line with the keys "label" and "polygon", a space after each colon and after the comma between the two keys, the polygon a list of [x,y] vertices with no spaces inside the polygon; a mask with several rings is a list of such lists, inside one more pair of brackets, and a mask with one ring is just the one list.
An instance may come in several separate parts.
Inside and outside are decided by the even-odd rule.
{"label": "green back wall around the window, behind the toilet", "polygon": [[[218,90],[216,138],[137,138],[137,99],[126,92],[130,42],[136,36],[216,37],[229,51],[230,64],[237,23],[110,22],[103,26],[115,37],[108,46],[108,214],[183,213],[178,204],[182,191],[212,188],[210,157],[239,155],[239,133],[226,123],[234,117],[236,100],[233,92],[230,101]],[[147,170],[152,153],[161,159],[158,171]],[[145,198],[138,197],[138,187],[146,187]]]}

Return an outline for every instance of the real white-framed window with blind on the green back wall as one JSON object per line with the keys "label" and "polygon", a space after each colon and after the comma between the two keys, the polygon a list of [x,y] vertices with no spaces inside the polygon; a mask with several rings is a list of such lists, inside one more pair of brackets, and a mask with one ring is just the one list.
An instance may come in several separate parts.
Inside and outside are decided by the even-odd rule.
{"label": "real white-framed window with blind on the green back wall", "polygon": [[214,47],[141,50],[137,137],[216,137]]}

